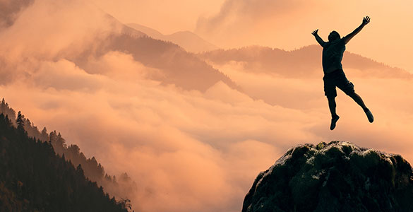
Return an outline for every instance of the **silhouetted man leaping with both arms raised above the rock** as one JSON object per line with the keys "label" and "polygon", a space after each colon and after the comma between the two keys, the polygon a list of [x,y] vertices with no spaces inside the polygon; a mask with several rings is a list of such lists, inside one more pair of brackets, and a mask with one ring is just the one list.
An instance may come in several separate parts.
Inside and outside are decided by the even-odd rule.
{"label": "silhouetted man leaping with both arms raised above the rock", "polygon": [[340,88],[340,90],[356,101],[357,104],[363,108],[369,122],[373,122],[373,114],[371,114],[369,108],[364,105],[361,97],[354,92],[354,85],[347,80],[344,71],[342,71],[341,64],[342,56],[346,49],[345,45],[368,23],[370,23],[370,17],[366,16],[363,18],[363,23],[361,23],[358,28],[342,38],[340,38],[340,35],[336,31],[333,31],[328,35],[328,42],[324,42],[323,39],[318,36],[318,30],[314,30],[313,33],[311,33],[323,47],[324,94],[328,99],[328,107],[330,107],[331,112],[330,130],[335,128],[336,122],[340,119],[335,113],[335,97],[337,96],[335,87]]}

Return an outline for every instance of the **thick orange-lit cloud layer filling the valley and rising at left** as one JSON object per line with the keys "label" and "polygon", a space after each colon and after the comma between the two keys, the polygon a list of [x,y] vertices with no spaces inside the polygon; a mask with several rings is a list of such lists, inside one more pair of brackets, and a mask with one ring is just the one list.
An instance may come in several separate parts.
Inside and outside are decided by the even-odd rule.
{"label": "thick orange-lit cloud layer filling the valley and rising at left", "polygon": [[410,80],[348,70],[376,121],[339,93],[332,132],[321,78],[213,64],[244,92],[218,82],[201,93],[150,80],[159,69],[116,51],[87,57],[85,71],[68,58],[119,28],[80,1],[47,3],[35,1],[0,31],[1,97],[107,172],[128,172],[136,211],[240,211],[258,172],[298,143],[346,140],[413,160]]}

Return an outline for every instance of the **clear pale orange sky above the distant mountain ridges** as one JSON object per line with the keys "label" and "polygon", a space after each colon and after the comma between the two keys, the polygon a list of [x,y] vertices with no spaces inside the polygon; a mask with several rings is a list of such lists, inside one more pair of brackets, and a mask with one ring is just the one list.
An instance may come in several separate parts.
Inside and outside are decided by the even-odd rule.
{"label": "clear pale orange sky above the distant mountain ridges", "polygon": [[[94,1],[125,23],[161,33],[192,30],[220,47],[265,45],[294,49],[315,44],[311,31],[327,39],[331,30],[351,33],[363,16],[371,23],[347,49],[413,71],[413,1]],[[199,20],[205,20],[200,24]],[[215,20],[215,23],[213,21]],[[198,23],[198,25],[197,25]],[[213,27],[209,25],[213,23]]]}

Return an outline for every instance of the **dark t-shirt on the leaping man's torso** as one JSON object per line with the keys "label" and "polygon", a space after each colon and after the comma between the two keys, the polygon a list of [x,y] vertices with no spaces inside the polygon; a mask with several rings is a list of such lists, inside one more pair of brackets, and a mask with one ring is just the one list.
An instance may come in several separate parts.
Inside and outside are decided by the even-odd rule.
{"label": "dark t-shirt on the leaping man's torso", "polygon": [[345,52],[344,37],[333,42],[326,42],[323,45],[323,71],[331,73],[337,69],[342,69],[342,56]]}

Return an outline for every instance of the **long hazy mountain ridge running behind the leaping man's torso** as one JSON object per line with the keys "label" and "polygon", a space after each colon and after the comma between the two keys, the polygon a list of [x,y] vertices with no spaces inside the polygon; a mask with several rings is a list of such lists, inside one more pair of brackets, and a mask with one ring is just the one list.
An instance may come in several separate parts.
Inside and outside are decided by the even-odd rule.
{"label": "long hazy mountain ridge running behind the leaping man's torso", "polygon": [[[322,75],[322,49],[311,45],[285,51],[270,47],[243,47],[239,49],[218,49],[198,54],[200,58],[215,64],[227,64],[230,61],[241,62],[246,71],[275,73],[285,77],[307,78]],[[383,78],[411,78],[409,72],[378,63],[358,54],[345,52],[344,69],[359,69],[359,76],[375,76]]]}

